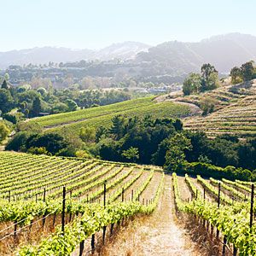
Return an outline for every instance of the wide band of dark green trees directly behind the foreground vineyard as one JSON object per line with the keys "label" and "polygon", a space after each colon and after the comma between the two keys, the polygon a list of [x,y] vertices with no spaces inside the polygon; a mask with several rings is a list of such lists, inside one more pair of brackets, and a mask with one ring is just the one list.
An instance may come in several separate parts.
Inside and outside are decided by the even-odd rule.
{"label": "wide band of dark green trees directly behind the foreground vineyard", "polygon": [[210,139],[203,132],[183,131],[179,119],[117,115],[109,128],[84,127],[79,135],[67,128],[43,133],[39,125],[32,123],[20,124],[18,131],[7,150],[93,156],[164,166],[166,172],[256,179],[256,137],[240,141],[236,136],[222,135]]}

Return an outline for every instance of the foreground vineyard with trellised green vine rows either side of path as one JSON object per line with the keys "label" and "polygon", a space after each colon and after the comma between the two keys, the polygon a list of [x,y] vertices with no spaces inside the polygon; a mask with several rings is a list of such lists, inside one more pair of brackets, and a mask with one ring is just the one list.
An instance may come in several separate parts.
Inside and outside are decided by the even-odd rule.
{"label": "foreground vineyard with trellised green vine rows either side of path", "polygon": [[[108,249],[108,237],[114,233],[122,236],[122,225],[129,227],[154,214],[158,224],[165,223],[157,226],[158,232],[171,236],[173,204],[178,218],[189,217],[205,230],[208,240],[218,241],[219,255],[256,255],[253,186],[175,173],[171,177],[157,166],[4,151],[0,153],[0,254],[93,253],[103,244]],[[171,217],[165,222],[159,214]],[[176,227],[176,232],[182,229]],[[143,242],[147,249],[152,246],[152,239]],[[157,250],[172,255],[165,254],[169,251],[161,242]]]}

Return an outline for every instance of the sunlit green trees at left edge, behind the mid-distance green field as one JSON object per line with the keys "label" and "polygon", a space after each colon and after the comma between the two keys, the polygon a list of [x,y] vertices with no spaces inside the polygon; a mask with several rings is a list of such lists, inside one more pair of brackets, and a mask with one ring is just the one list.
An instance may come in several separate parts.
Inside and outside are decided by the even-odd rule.
{"label": "sunlit green trees at left edge, behind the mid-distance green field", "polygon": [[3,79],[0,85],[0,116],[14,124],[44,113],[62,113],[131,99],[131,93],[124,90],[79,90],[75,84],[65,90],[32,89],[30,84],[15,87]]}

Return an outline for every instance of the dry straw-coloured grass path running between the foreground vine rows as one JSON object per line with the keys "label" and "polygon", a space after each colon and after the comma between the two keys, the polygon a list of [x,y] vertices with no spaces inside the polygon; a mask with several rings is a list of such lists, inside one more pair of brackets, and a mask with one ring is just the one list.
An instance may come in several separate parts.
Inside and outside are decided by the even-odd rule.
{"label": "dry straw-coloured grass path running between the foreground vine rows", "polygon": [[200,256],[195,243],[177,224],[172,197],[172,177],[166,176],[158,209],[150,217],[136,218],[119,231],[102,255]]}

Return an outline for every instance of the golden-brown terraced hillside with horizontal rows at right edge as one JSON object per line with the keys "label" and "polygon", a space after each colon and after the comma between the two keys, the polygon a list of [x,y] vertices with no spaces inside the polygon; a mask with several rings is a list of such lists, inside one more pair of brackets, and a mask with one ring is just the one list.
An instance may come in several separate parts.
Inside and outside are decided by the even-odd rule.
{"label": "golden-brown terraced hillside with horizontal rows at right edge", "polygon": [[256,134],[256,80],[225,85],[199,96],[177,97],[173,101],[200,105],[202,98],[216,102],[214,112],[183,119],[185,129],[205,131],[212,137],[224,133],[239,137]]}

